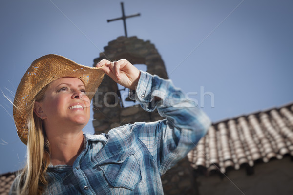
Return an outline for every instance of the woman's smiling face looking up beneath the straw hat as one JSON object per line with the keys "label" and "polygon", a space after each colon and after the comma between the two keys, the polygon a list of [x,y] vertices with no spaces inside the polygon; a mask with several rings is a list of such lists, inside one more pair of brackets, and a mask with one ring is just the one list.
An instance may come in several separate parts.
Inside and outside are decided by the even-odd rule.
{"label": "woman's smiling face looking up beneath the straw hat", "polygon": [[51,82],[40,106],[47,125],[85,126],[90,117],[90,100],[78,78],[64,77]]}

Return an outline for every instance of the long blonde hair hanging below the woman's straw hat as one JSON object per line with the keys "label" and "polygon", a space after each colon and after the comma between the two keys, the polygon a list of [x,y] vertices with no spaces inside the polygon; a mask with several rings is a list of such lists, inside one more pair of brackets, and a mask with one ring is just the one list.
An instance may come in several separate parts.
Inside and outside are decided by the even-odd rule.
{"label": "long blonde hair hanging below the woman's straw hat", "polygon": [[41,195],[48,184],[45,175],[50,164],[49,142],[42,119],[34,113],[35,102],[42,101],[48,87],[49,85],[42,88],[26,108],[28,113],[27,162],[16,181],[15,190],[18,195]]}

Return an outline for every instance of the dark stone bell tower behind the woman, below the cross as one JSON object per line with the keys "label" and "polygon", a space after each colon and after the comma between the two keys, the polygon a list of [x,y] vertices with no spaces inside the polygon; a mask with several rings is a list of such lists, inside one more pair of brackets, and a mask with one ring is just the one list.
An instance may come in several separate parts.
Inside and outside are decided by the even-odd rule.
{"label": "dark stone bell tower behind the woman, below the cross", "polygon": [[[102,59],[110,61],[127,59],[133,65],[145,64],[148,73],[168,78],[164,61],[149,40],[144,41],[137,37],[118,37],[104,47],[104,52],[100,53],[100,57],[94,59],[94,65]],[[127,123],[164,119],[156,110],[146,112],[139,105],[124,106],[124,97],[121,96],[120,91],[117,83],[105,75],[93,98],[93,126],[96,134],[107,133],[110,129]],[[162,183],[165,195],[194,194],[193,171],[188,159],[184,158],[168,170],[162,176]]]}

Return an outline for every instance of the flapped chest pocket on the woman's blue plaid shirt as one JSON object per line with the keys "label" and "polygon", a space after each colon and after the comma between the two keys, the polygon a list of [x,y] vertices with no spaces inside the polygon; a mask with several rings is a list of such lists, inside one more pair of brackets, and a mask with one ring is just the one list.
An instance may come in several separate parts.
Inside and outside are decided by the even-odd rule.
{"label": "flapped chest pocket on the woman's blue plaid shirt", "polygon": [[133,190],[142,180],[141,170],[134,157],[133,149],[112,156],[97,166],[103,171],[108,183],[113,187]]}

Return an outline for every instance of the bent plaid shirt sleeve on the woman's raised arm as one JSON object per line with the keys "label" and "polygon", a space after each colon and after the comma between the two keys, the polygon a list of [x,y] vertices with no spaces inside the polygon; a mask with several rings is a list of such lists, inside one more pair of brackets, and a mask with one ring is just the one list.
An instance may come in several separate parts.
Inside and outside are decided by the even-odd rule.
{"label": "bent plaid shirt sleeve on the woman's raised arm", "polygon": [[[161,101],[154,101],[154,97]],[[164,174],[193,149],[210,126],[209,117],[197,107],[171,80],[141,71],[136,90],[129,91],[129,98],[151,112],[155,109],[166,119],[143,123],[137,132],[157,160],[159,171]]]}

